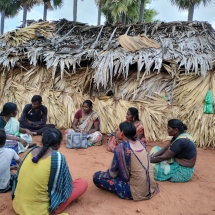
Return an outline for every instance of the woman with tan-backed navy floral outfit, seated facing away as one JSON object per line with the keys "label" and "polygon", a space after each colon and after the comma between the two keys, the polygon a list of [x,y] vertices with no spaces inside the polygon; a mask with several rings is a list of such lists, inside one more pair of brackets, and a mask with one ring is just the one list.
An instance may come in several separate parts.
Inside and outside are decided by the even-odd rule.
{"label": "woman with tan-backed navy floral outfit, seated facing away", "polygon": [[148,152],[135,138],[136,128],[130,122],[119,125],[116,133],[122,142],[114,149],[111,167],[96,172],[93,182],[98,188],[115,193],[122,199],[150,199],[159,192],[154,181]]}

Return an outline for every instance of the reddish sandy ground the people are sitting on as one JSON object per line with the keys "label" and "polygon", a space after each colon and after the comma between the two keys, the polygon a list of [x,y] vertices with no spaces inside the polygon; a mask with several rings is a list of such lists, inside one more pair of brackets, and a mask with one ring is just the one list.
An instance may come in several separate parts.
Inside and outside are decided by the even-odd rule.
{"label": "reddish sandy ground the people are sitting on", "polygon": [[[38,144],[40,140],[41,137],[34,137]],[[154,145],[164,144],[149,143],[148,149]],[[59,151],[66,156],[73,179],[85,178],[89,183],[86,193],[66,208],[65,212],[70,215],[215,215],[214,149],[198,149],[195,172],[190,182],[158,182],[161,192],[150,200],[139,202],[122,200],[94,186],[93,173],[106,171],[113,156],[106,150],[105,140],[102,146],[78,150],[66,149],[64,140]],[[139,213],[137,209],[140,209]],[[0,194],[0,214],[15,215],[10,192]]]}

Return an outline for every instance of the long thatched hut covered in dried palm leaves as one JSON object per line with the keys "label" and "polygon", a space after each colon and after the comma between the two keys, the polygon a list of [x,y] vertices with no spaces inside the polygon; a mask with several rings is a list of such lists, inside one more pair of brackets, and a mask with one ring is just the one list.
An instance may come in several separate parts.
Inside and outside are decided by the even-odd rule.
{"label": "long thatched hut covered in dried palm leaves", "polygon": [[165,140],[167,120],[178,117],[198,146],[214,147],[215,115],[203,113],[207,91],[215,95],[214,57],[215,31],[206,22],[33,23],[0,38],[1,106],[13,101],[21,112],[41,94],[49,121],[68,128],[91,98],[103,133],[135,106],[148,140]]}

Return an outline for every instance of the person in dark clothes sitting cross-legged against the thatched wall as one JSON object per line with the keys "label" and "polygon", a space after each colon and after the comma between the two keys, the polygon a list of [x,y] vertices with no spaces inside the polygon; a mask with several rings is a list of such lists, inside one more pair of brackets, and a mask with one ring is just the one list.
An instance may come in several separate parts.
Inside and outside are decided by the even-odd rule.
{"label": "person in dark clothes sitting cross-legged against the thatched wall", "polygon": [[29,129],[33,135],[41,135],[49,128],[54,128],[52,124],[46,124],[48,110],[42,105],[42,97],[35,95],[31,99],[31,104],[27,104],[19,119],[22,128]]}

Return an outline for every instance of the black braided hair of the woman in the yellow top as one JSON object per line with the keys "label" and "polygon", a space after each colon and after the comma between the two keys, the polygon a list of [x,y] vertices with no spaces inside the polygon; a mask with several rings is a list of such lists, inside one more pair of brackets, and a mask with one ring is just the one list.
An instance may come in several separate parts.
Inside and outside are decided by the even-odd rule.
{"label": "black braided hair of the woman in the yellow top", "polygon": [[37,156],[32,158],[32,162],[37,163],[39,159],[45,154],[49,147],[55,146],[56,144],[60,144],[62,140],[61,132],[56,128],[47,129],[43,133],[42,144],[43,147],[38,153]]}

